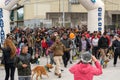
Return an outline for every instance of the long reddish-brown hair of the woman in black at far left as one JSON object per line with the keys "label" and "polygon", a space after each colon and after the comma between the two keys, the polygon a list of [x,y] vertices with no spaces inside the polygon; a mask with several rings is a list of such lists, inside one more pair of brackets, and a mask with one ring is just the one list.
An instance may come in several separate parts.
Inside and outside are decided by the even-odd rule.
{"label": "long reddish-brown hair of the woman in black at far left", "polygon": [[10,48],[10,57],[13,58],[16,55],[16,47],[10,39],[4,41],[4,48]]}

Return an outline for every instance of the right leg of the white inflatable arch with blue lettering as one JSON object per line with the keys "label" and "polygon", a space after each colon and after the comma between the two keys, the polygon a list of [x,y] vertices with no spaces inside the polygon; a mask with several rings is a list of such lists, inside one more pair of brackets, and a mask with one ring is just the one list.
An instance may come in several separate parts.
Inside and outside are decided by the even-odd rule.
{"label": "right leg of the white inflatable arch with blue lettering", "polygon": [[79,0],[88,10],[88,31],[104,32],[104,3],[101,0]]}

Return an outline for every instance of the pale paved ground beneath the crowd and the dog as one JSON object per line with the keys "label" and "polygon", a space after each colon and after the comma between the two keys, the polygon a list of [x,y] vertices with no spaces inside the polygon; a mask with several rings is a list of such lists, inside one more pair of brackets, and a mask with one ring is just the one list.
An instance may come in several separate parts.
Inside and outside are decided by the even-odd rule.
{"label": "pale paved ground beneath the crowd and the dog", "polygon": [[[45,65],[47,63],[46,58],[41,58],[40,65]],[[78,62],[78,60],[74,61],[73,64]],[[112,65],[113,60],[111,60],[108,64],[108,67],[106,69],[103,69],[103,74],[101,76],[94,77],[93,80],[120,80],[120,60],[118,60],[118,64],[116,67],[113,67]],[[74,80],[73,75],[68,71],[69,67],[73,64],[69,64],[67,68],[64,68],[64,71],[62,72],[62,78],[58,78],[54,75],[54,68],[51,70],[52,72],[49,72],[49,78],[46,76],[43,76],[42,80]],[[32,64],[32,68],[37,66],[36,64]],[[0,80],[4,80],[5,77],[5,71],[2,66],[0,66]],[[17,79],[17,70],[15,74],[15,80]],[[34,79],[35,80],[35,79]],[[39,79],[40,80],[40,79]]]}

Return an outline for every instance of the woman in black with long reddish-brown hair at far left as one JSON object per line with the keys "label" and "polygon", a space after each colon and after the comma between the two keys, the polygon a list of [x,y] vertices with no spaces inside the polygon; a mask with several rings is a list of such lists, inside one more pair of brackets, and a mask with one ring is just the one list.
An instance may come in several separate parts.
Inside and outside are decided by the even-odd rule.
{"label": "woman in black with long reddish-brown hair at far left", "polygon": [[15,73],[15,56],[16,56],[16,47],[10,39],[4,41],[3,47],[0,46],[0,49],[3,52],[3,61],[5,67],[5,80],[14,80]]}

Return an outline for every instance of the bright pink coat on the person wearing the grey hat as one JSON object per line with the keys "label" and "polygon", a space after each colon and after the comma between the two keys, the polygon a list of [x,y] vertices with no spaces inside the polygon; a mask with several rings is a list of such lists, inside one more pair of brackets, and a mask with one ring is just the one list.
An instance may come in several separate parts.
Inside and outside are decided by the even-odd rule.
{"label": "bright pink coat on the person wearing the grey hat", "polygon": [[93,67],[91,64],[76,64],[72,66],[69,71],[74,74],[74,80],[93,80],[94,75],[102,74],[102,67],[98,61]]}

